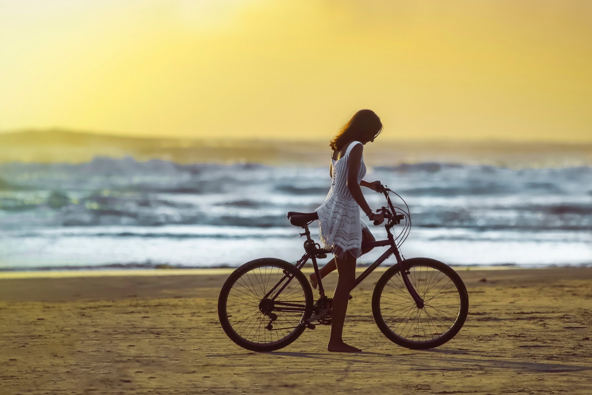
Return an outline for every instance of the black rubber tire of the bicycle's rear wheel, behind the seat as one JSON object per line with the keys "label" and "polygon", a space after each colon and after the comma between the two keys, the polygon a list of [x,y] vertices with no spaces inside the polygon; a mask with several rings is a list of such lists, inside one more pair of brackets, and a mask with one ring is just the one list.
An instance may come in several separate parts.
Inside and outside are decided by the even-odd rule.
{"label": "black rubber tire of the bicycle's rear wheel, behind the seat", "polygon": [[[229,309],[228,300],[229,300],[229,295],[231,295],[230,291],[233,289],[234,284],[237,284],[237,283],[240,284],[240,278],[242,278],[244,275],[247,275],[249,272],[253,271],[254,269],[259,268],[259,270],[260,270],[260,268],[263,268],[263,267],[278,268],[279,270],[284,271],[284,276],[286,274],[293,273],[294,279],[292,279],[292,282],[295,280],[298,281],[298,284],[300,285],[300,287],[303,290],[303,296],[304,296],[304,301],[305,301],[305,303],[304,303],[305,311],[302,314],[301,318],[306,319],[306,318],[310,317],[312,314],[312,311],[313,311],[313,291],[312,291],[312,288],[310,287],[310,284],[308,283],[308,280],[305,277],[305,275],[303,274],[303,272],[301,272],[300,270],[297,270],[294,267],[294,265],[290,264],[289,262],[282,261],[281,259],[276,259],[276,258],[260,258],[260,259],[255,259],[253,261],[249,261],[246,264],[243,264],[242,266],[237,268],[234,272],[232,272],[232,274],[230,274],[229,278],[227,278],[227,280],[224,282],[224,285],[222,286],[222,288],[220,290],[220,296],[218,297],[218,319],[220,319],[220,324],[222,326],[222,329],[224,330],[226,335],[231,339],[231,341],[233,341],[237,345],[241,346],[242,348],[248,349],[250,351],[258,351],[258,352],[275,351],[275,350],[284,348],[285,346],[288,346],[289,344],[294,342],[296,339],[298,339],[298,337],[300,337],[300,335],[302,335],[302,333],[304,332],[304,329],[306,329],[306,327],[304,325],[302,325],[302,324],[300,324],[300,322],[298,322],[297,327],[295,327],[291,332],[289,332],[287,336],[284,336],[284,338],[279,339],[279,335],[278,335],[278,339],[276,341],[263,342],[263,343],[246,339],[242,335],[237,333],[237,331],[234,329],[232,323],[230,322],[229,312],[228,312],[229,311],[228,310]],[[281,277],[279,277],[279,278],[281,278]],[[270,282],[272,282],[272,281],[270,281]],[[273,285],[267,284],[266,286],[262,287],[262,293],[267,291],[268,288],[270,288],[272,286]],[[259,296],[257,296],[257,297],[259,297]],[[253,298],[255,298],[255,296],[253,296]],[[254,306],[253,303],[252,303],[252,306]],[[230,307],[230,309],[232,309],[232,307]],[[253,309],[252,307],[251,307],[251,309],[253,310],[252,314],[255,314],[255,316],[256,316],[256,314],[257,314],[256,310]],[[260,313],[260,310],[259,310],[259,314],[260,314],[260,316],[263,316],[263,314]],[[299,318],[299,320],[300,320],[300,318]],[[271,333],[270,333],[270,336],[271,336]],[[266,340],[266,338],[264,338],[264,341],[265,340]]]}

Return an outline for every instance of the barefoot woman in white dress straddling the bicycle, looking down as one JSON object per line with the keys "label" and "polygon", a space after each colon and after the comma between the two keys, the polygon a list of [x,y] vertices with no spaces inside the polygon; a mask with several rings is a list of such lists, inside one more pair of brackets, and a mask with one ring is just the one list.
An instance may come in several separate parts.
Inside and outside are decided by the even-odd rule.
{"label": "barefoot woman in white dress straddling the bicycle, looking down", "polygon": [[[331,188],[327,198],[315,210],[318,213],[320,238],[326,248],[332,248],[334,258],[320,269],[321,278],[337,269],[339,279],[333,295],[331,309],[331,336],[327,350],[335,352],[360,352],[361,350],[343,342],[343,322],[348,309],[349,293],[353,288],[356,274],[356,259],[363,253],[362,240],[374,240],[368,225],[360,218],[359,208],[371,221],[384,221],[382,214],[372,213],[362,194],[360,186],[380,191],[380,181],[366,182],[366,166],[362,158],[363,145],[373,142],[382,130],[378,115],[371,110],[360,110],[342,130],[337,133],[329,146],[333,149],[329,174]],[[317,278],[310,275],[314,288]]]}

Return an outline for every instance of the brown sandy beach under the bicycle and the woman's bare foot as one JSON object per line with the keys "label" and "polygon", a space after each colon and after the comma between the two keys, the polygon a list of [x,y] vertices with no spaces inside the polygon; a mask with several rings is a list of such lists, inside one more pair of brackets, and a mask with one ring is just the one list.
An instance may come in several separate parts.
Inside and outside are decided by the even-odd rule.
{"label": "brown sandy beach under the bicycle and the woman's bare foot", "polygon": [[323,326],[239,348],[216,312],[229,272],[2,274],[0,394],[592,393],[592,268],[459,270],[468,319],[431,351],[379,332],[375,273],[346,319],[362,354],[327,352]]}

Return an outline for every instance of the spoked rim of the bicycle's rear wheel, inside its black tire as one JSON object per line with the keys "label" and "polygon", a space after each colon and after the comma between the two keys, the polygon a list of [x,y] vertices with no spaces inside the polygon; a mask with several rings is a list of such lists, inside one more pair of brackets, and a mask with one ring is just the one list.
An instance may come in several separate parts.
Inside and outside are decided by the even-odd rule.
{"label": "spoked rim of the bicycle's rear wheel, inside its black tire", "polygon": [[[244,272],[232,284],[226,299],[226,317],[231,329],[243,341],[253,345],[275,345],[284,341],[300,327],[304,313],[278,311],[264,296],[274,285],[285,278],[284,268],[275,265],[263,265]],[[289,282],[275,301],[305,307],[305,291],[297,277]],[[284,306],[285,308],[285,306]],[[276,319],[269,325],[273,313]]]}

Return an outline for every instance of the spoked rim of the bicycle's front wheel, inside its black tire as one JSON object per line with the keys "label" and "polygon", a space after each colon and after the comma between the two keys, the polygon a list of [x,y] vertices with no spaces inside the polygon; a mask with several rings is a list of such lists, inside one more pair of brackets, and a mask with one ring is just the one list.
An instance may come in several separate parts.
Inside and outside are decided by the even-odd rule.
{"label": "spoked rim of the bicycle's front wheel, inside its black tire", "polygon": [[394,336],[406,342],[434,342],[458,323],[461,293],[454,280],[435,266],[414,265],[409,271],[407,277],[424,307],[417,308],[397,271],[382,288],[382,320]]}

